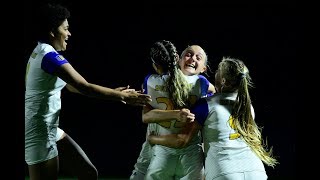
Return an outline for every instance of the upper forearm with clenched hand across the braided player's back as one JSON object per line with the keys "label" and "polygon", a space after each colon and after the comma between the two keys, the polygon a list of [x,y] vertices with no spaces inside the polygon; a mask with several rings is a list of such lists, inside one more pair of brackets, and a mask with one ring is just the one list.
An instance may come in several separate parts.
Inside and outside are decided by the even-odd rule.
{"label": "upper forearm with clenched hand across the braided player's back", "polygon": [[142,114],[143,123],[160,123],[172,120],[191,122],[194,121],[194,118],[194,114],[186,108],[180,110],[161,110],[153,109],[150,105],[144,106]]}

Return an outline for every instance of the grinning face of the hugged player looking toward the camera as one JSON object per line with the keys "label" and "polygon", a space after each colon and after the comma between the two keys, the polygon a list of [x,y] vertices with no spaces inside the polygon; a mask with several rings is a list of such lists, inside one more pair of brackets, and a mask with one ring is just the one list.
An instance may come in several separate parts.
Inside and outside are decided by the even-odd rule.
{"label": "grinning face of the hugged player looking toward the camera", "polygon": [[207,55],[198,45],[189,46],[183,51],[179,66],[183,74],[191,76],[206,71]]}

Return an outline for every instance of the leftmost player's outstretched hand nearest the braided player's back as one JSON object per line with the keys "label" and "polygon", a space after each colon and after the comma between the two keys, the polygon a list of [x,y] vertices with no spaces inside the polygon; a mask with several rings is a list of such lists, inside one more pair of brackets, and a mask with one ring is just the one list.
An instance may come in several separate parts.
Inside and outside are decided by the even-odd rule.
{"label": "leftmost player's outstretched hand nearest the braided player's back", "polygon": [[122,91],[126,93],[124,100],[122,101],[125,104],[133,106],[145,106],[151,102],[151,96],[147,94],[141,94],[140,91]]}

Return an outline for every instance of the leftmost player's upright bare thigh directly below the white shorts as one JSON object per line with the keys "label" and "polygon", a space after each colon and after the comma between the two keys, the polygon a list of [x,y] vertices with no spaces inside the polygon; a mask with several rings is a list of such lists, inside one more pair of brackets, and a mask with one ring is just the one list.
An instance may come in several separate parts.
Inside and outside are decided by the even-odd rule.
{"label": "leftmost player's upright bare thigh directly below the white shorts", "polygon": [[58,157],[54,157],[39,164],[28,165],[30,180],[57,180]]}

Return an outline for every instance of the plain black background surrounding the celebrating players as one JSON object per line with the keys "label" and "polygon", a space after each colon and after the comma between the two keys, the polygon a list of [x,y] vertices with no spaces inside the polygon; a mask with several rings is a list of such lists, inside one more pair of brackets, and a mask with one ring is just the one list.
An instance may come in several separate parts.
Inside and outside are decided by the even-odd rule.
{"label": "plain black background surrounding the celebrating players", "polygon": [[[36,45],[33,22],[39,2],[24,4],[25,64]],[[91,83],[140,89],[144,76],[153,71],[148,50],[161,39],[172,41],[179,52],[187,45],[202,46],[213,72],[222,56],[242,59],[255,83],[251,96],[256,121],[280,162],[274,169],[266,167],[269,179],[295,178],[301,28],[295,3],[60,3],[71,11],[72,36],[63,54]],[[213,73],[208,73],[213,82]],[[146,132],[140,107],[67,91],[62,94],[60,127],[83,148],[101,177],[129,177]]]}

